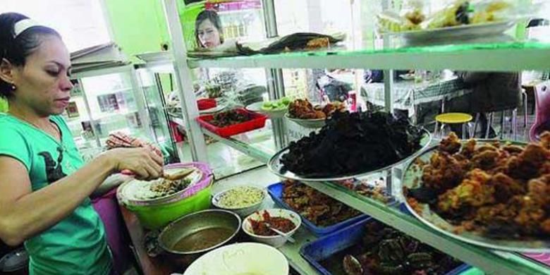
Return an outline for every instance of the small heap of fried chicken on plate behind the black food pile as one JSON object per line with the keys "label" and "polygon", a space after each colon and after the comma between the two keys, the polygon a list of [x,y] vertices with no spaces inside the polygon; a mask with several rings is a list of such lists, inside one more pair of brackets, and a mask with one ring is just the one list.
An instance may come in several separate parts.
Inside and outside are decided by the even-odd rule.
{"label": "small heap of fried chicken on plate behind the black food pile", "polygon": [[331,116],[335,111],[346,111],[346,106],[341,102],[313,106],[307,99],[296,99],[288,105],[291,118],[321,119]]}

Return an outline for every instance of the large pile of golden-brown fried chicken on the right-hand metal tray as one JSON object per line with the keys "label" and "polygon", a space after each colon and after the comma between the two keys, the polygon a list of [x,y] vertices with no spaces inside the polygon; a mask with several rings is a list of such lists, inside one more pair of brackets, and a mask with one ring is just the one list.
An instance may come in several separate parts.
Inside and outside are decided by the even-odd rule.
{"label": "large pile of golden-brown fried chicken on the right-hand metal tray", "polygon": [[[496,238],[550,237],[549,132],[525,147],[462,144],[451,133],[423,166],[422,182],[436,195],[432,209],[460,230]],[[420,199],[410,196],[408,202]]]}

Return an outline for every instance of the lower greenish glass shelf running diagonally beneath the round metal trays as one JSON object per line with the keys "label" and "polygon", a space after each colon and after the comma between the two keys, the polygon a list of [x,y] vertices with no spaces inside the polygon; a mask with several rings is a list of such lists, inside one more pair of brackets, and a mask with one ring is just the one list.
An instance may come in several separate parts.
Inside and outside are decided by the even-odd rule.
{"label": "lower greenish glass shelf running diagonally beneath the round metal trays", "polygon": [[[214,139],[224,142],[224,144],[237,149],[240,152],[249,154],[251,157],[255,157],[259,161],[266,163],[273,155],[272,152],[262,151],[256,147],[248,145],[246,142],[236,140],[233,138],[221,138],[214,133],[204,131],[207,135],[212,136]],[[423,224],[414,216],[404,214],[397,207],[386,206],[376,200],[369,199],[362,195],[358,195],[353,190],[348,190],[341,185],[336,185],[330,182],[318,183],[318,182],[304,182],[306,185],[318,190],[335,200],[343,202],[350,207],[353,207],[360,212],[372,216],[388,226],[398,229],[403,233],[421,240],[428,245],[432,245],[442,252],[447,253],[460,259],[463,262],[471,264],[474,267],[482,269],[487,274],[550,274],[550,268],[544,264],[530,261],[522,255],[513,252],[502,252],[496,250],[489,250],[483,247],[470,245],[463,243],[459,240],[455,240],[442,233],[434,231],[429,226]],[[304,235],[305,234],[305,235]],[[305,238],[302,238],[304,236]],[[286,245],[281,251],[288,257],[290,262],[305,263],[307,267],[309,264],[305,262],[305,259],[299,255],[300,246],[298,243],[306,243],[307,240],[313,240],[312,233],[297,233],[297,243],[294,245]],[[300,271],[300,274],[316,274],[304,271],[303,268],[297,268],[293,265],[293,268]],[[310,267],[311,268],[311,267]],[[313,269],[311,269],[313,270]]]}

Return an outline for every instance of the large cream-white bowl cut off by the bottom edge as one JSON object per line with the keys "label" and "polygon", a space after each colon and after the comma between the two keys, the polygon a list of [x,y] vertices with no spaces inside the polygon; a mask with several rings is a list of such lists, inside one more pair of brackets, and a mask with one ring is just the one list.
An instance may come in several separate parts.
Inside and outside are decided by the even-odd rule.
{"label": "large cream-white bowl cut off by the bottom edge", "polygon": [[288,260],[279,250],[261,243],[236,243],[198,258],[183,275],[288,275]]}

